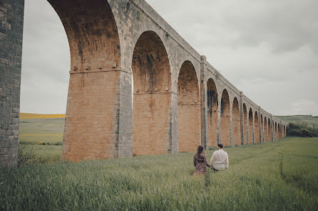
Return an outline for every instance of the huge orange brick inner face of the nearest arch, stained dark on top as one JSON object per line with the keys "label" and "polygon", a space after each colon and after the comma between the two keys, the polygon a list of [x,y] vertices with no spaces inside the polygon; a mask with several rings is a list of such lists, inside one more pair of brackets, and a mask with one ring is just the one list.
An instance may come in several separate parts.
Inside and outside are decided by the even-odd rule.
{"label": "huge orange brick inner face of the nearest arch, stained dark on top", "polygon": [[118,157],[120,41],[108,1],[48,0],[71,53],[63,158]]}

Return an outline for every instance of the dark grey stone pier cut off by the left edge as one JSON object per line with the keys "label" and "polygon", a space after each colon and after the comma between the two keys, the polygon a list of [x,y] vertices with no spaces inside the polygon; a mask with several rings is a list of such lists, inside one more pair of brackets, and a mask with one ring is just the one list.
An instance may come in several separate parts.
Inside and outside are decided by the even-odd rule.
{"label": "dark grey stone pier cut off by the left edge", "polygon": [[16,166],[24,0],[0,1],[0,166]]}

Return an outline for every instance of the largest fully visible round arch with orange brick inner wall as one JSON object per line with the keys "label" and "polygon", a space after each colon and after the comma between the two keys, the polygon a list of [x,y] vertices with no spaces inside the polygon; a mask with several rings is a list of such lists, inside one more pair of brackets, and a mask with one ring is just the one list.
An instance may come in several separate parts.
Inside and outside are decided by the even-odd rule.
{"label": "largest fully visible round arch with orange brick inner wall", "polygon": [[170,150],[170,64],[160,37],[140,35],[133,51],[133,154]]}

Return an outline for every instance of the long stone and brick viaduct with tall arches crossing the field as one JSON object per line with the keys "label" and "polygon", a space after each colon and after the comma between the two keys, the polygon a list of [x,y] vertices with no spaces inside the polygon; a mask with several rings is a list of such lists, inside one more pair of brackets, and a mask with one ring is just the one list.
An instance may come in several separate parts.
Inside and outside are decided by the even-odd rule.
{"label": "long stone and brick viaduct with tall arches crossing the field", "polygon": [[[71,50],[63,158],[195,151],[284,138],[143,0],[48,0]],[[15,165],[24,0],[0,2],[0,164]],[[132,97],[133,94],[133,97]]]}

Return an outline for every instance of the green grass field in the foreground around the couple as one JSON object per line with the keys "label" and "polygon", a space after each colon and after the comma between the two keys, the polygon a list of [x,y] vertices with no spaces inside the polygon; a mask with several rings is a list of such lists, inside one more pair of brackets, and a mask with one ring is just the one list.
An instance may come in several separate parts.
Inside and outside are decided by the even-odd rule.
{"label": "green grass field in the foreground around the couple", "polygon": [[0,210],[317,210],[317,138],[225,151],[228,170],[196,178],[193,153],[1,168]]}

